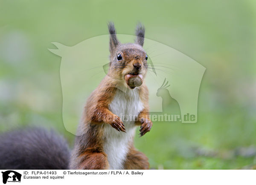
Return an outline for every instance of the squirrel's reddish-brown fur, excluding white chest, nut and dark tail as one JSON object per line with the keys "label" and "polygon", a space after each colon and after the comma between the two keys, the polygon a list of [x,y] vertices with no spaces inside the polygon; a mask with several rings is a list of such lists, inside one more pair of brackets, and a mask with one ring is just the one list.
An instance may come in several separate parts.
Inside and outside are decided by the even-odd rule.
{"label": "squirrel's reddish-brown fur, excluding white chest, nut and dark tail", "polygon": [[[112,30],[111,30],[112,29]],[[139,30],[140,31],[140,30]],[[115,33],[110,28],[110,33]],[[139,44],[143,40],[138,41]],[[141,46],[142,46],[141,45]],[[143,68],[141,73],[145,77],[147,71],[147,62],[145,61],[145,51],[138,44],[119,45],[119,41],[114,35],[111,35],[111,66],[108,75],[102,80],[99,86],[92,92],[84,107],[81,123],[78,128],[75,147],[73,150],[70,168],[71,169],[108,169],[109,164],[107,154],[103,151],[103,132],[106,124],[110,124],[116,131],[124,131],[125,128],[115,114],[108,108],[116,93],[116,88],[122,88],[126,85],[124,76],[128,73],[136,73],[134,71],[134,63],[141,63]],[[122,54],[125,65],[115,60],[116,51]],[[143,102],[144,109],[138,115],[139,122],[135,124],[141,125],[141,136],[150,131],[152,122],[148,118],[148,88],[145,83],[140,87],[140,100]],[[110,118],[110,119],[108,119]],[[148,158],[141,152],[136,151],[133,143],[130,143],[130,150],[127,154],[124,168],[125,169],[148,169]]]}

